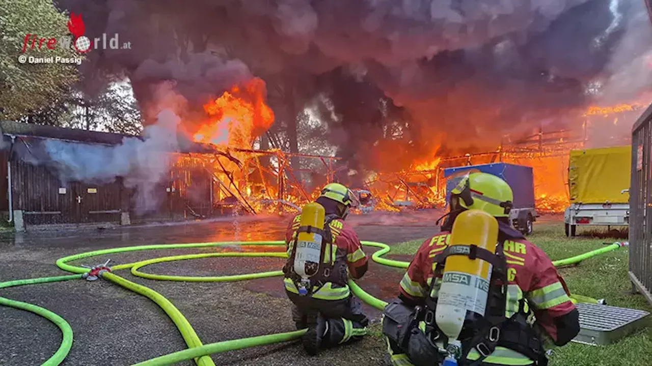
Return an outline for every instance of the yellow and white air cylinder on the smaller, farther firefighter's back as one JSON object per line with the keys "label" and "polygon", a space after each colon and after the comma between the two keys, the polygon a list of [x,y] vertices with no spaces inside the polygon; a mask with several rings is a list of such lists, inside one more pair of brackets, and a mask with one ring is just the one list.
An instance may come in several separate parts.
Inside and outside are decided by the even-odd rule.
{"label": "yellow and white air cylinder on the smaller, farther firefighter's back", "polygon": [[324,218],[325,210],[319,203],[308,203],[301,210],[294,257],[294,272],[301,277],[298,288],[300,295],[308,293],[310,277],[319,270]]}

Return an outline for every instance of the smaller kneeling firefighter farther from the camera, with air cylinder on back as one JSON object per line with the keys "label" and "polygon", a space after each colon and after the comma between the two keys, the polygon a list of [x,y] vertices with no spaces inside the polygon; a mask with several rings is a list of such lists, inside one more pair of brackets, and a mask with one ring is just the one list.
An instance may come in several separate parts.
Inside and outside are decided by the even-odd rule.
{"label": "smaller kneeling firefighter farther from the camera, with air cylinder on back", "polygon": [[308,327],[303,345],[308,354],[319,348],[356,341],[369,322],[347,285],[348,275],[361,278],[367,270],[355,231],[344,222],[357,197],[342,184],[325,186],[315,203],[304,206],[286,233],[288,262],[284,285],[294,303],[297,329]]}

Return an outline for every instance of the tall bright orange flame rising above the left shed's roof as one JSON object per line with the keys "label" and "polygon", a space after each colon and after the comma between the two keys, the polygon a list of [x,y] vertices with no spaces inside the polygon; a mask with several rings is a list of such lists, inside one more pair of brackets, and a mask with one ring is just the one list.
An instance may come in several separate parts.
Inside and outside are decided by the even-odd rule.
{"label": "tall bright orange flame rising above the left shed's roof", "polygon": [[200,143],[251,148],[274,123],[274,113],[265,104],[265,82],[258,78],[232,87],[204,110],[211,117],[194,134]]}

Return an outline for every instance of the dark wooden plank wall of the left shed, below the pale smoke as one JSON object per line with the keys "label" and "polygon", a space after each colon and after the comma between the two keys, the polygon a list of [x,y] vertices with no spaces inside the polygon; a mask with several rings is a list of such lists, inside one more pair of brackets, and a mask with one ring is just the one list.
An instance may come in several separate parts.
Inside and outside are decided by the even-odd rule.
{"label": "dark wooden plank wall of the left shed, below the pale smoke", "polygon": [[[34,147],[33,147],[34,148]],[[0,152],[0,210],[8,210],[7,150]],[[57,223],[119,223],[121,212],[132,219],[209,217],[214,210],[215,184],[200,161],[182,159],[173,164],[167,179],[153,188],[158,197],[154,212],[136,211],[134,190],[122,178],[107,184],[60,180],[57,171],[33,165],[18,154],[10,158],[12,209],[23,211],[27,225]],[[211,193],[213,190],[213,193]]]}

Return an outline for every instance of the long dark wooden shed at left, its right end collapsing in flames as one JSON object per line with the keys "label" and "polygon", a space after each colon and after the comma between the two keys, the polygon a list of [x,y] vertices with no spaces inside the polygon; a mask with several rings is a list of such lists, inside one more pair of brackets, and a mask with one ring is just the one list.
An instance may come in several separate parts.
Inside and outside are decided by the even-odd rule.
{"label": "long dark wooden shed at left, its right end collapsing in flames", "polygon": [[164,109],[138,137],[1,122],[1,209],[19,231],[295,211],[315,192],[289,160],[319,160],[332,178],[336,158],[252,150],[274,119],[263,89],[259,79],[236,85],[186,122]]}

